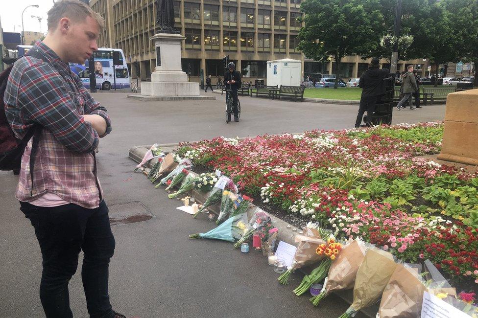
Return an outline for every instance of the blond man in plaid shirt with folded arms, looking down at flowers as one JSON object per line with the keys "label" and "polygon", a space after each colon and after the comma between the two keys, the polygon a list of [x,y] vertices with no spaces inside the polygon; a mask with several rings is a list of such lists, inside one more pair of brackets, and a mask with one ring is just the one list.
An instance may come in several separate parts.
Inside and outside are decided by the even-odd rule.
{"label": "blond man in plaid shirt with folded arms, looking down at flowers", "polygon": [[90,317],[124,317],[109,300],[115,239],[96,177],[95,149],[110,133],[111,120],[68,66],[93,55],[103,26],[88,5],[56,2],[48,11],[45,40],[15,63],[5,90],[5,114],[15,135],[34,131],[22,157],[16,198],[42,251],[40,299],[48,318],[73,316],[68,283],[80,250]]}

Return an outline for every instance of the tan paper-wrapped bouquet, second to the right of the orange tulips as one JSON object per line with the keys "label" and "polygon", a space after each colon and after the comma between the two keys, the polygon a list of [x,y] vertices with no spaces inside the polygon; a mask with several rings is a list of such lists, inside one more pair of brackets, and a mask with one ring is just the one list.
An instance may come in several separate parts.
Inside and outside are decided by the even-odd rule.
{"label": "tan paper-wrapped bouquet, second to the right of the orange tulips", "polygon": [[369,248],[355,277],[354,302],[339,318],[354,317],[360,309],[378,301],[396,266],[392,254]]}

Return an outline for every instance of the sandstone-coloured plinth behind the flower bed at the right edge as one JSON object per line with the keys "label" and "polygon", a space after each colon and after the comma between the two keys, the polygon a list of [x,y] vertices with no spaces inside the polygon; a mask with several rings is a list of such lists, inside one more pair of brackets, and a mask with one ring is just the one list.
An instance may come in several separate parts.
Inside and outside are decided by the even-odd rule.
{"label": "sandstone-coloured plinth behind the flower bed at the right edge", "polygon": [[478,165],[478,90],[448,94],[438,159]]}

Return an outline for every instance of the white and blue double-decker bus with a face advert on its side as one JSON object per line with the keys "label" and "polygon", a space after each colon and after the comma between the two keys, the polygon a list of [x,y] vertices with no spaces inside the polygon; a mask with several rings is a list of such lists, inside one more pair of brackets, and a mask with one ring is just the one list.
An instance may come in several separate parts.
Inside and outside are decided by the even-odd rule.
{"label": "white and blue double-decker bus with a face advert on its side", "polygon": [[[93,53],[93,58],[95,59],[94,69],[96,87],[104,91],[109,91],[115,88],[115,78],[113,75],[113,51],[119,52],[119,65],[115,65],[116,88],[122,89],[130,87],[129,71],[123,50],[119,48],[100,47]],[[89,89],[90,72],[88,60],[82,65],[70,63],[70,68],[72,72],[76,73],[81,78],[85,88]]]}

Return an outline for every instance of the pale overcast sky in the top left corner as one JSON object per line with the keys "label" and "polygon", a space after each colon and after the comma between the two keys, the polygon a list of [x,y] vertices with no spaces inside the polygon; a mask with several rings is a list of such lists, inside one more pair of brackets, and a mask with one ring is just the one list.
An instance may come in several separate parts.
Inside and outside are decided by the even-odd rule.
{"label": "pale overcast sky in the top left corner", "polygon": [[[25,31],[47,32],[47,12],[53,6],[53,0],[0,0],[0,20],[3,32],[13,32],[14,26],[17,32],[22,31],[22,11],[31,4],[38,4],[39,7],[29,7],[23,15]],[[43,18],[40,23],[39,16]]]}

